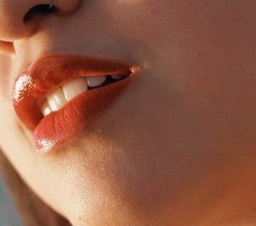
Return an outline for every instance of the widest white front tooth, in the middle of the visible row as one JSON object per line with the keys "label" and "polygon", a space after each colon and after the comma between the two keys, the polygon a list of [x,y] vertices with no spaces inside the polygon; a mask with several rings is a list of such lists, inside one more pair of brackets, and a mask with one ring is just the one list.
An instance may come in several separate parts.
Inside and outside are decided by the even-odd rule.
{"label": "widest white front tooth, in the middle of the visible row", "polygon": [[83,77],[73,79],[71,82],[64,84],[62,89],[64,92],[64,97],[67,101],[70,101],[80,93],[87,91],[87,79]]}

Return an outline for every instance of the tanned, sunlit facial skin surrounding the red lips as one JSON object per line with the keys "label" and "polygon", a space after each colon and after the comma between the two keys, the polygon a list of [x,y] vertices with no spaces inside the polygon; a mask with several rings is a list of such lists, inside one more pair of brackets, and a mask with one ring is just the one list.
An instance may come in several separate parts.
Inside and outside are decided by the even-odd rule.
{"label": "tanned, sunlit facial skin surrounding the red lips", "polygon": [[[256,224],[255,1],[56,0],[63,15],[23,23],[42,3],[0,4],[0,146],[31,189],[74,225]],[[84,134],[41,155],[12,86],[55,53],[143,70]]]}

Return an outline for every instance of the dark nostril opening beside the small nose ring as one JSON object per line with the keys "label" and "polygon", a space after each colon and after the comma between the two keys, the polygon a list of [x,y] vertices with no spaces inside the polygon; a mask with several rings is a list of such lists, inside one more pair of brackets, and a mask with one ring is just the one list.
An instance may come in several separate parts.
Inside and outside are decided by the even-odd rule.
{"label": "dark nostril opening beside the small nose ring", "polygon": [[36,17],[42,17],[44,15],[49,15],[57,11],[55,6],[49,8],[49,5],[35,5],[32,7],[24,16],[23,21],[28,22]]}

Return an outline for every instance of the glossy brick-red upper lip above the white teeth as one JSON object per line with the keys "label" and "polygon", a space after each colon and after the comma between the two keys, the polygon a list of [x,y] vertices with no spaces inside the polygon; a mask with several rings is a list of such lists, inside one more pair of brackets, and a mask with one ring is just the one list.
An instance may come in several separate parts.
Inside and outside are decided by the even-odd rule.
{"label": "glossy brick-red upper lip above the white teeth", "polygon": [[38,100],[61,82],[75,76],[130,75],[132,66],[113,60],[75,55],[54,55],[33,63],[15,80],[13,104],[21,121],[29,129],[37,127],[43,115]]}

